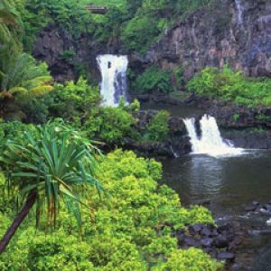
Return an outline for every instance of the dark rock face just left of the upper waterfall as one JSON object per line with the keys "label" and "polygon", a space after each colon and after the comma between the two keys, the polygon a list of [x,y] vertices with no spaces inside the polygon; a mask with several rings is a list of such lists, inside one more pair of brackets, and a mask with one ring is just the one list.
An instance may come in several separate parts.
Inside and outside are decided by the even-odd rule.
{"label": "dark rock face just left of the upper waterfall", "polygon": [[46,61],[54,79],[64,82],[76,78],[77,70],[84,68],[93,79],[99,80],[100,73],[96,57],[98,54],[119,52],[119,44],[98,44],[91,35],[72,37],[67,31],[54,24],[48,25],[37,37],[33,56]]}

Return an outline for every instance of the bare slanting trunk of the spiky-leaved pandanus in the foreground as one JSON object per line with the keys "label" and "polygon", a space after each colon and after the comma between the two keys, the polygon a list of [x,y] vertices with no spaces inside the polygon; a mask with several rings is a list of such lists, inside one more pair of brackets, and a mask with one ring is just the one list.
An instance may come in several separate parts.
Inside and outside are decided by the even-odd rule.
{"label": "bare slanting trunk of the spiky-leaved pandanus in the foreground", "polygon": [[19,212],[17,217],[14,219],[13,224],[6,230],[4,237],[0,241],[0,254],[5,250],[11,238],[13,238],[15,231],[19,228],[25,217],[28,215],[29,211],[32,209],[33,204],[37,198],[37,192],[31,192],[27,201],[24,203],[22,210]]}

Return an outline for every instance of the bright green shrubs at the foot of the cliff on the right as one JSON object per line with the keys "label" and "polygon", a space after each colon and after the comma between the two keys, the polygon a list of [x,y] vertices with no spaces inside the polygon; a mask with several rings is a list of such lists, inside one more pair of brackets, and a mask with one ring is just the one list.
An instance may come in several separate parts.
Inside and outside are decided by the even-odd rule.
{"label": "bright green shrubs at the foot of the cliff on the right", "polygon": [[246,77],[241,71],[207,67],[188,83],[188,89],[212,98],[233,100],[247,107],[271,106],[271,79]]}

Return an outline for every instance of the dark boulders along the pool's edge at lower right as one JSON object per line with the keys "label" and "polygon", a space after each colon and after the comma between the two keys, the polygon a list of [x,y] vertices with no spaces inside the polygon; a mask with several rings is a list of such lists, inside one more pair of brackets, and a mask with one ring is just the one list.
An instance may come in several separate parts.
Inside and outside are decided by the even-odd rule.
{"label": "dark boulders along the pool's edge at lower right", "polygon": [[[260,204],[253,201],[244,208],[249,215],[259,215],[266,220],[271,218],[271,201]],[[187,229],[173,230],[173,236],[178,240],[179,248],[201,248],[218,260],[225,261],[226,270],[254,270],[255,263],[251,260],[253,249],[249,247],[249,238],[254,235],[271,236],[269,225],[256,227],[236,219],[217,221],[218,226],[196,224]],[[170,225],[165,225],[170,226]]]}

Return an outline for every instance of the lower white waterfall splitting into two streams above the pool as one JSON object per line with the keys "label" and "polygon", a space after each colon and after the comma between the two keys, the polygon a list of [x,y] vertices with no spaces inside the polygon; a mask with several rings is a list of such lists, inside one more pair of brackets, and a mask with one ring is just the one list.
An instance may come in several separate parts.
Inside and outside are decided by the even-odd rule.
{"label": "lower white waterfall splitting into two streams above the pool", "polygon": [[197,135],[193,117],[183,119],[183,122],[191,137],[193,154],[208,154],[214,157],[242,154],[242,149],[223,141],[214,117],[204,115],[201,118],[201,137]]}

